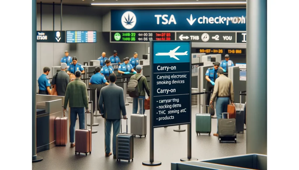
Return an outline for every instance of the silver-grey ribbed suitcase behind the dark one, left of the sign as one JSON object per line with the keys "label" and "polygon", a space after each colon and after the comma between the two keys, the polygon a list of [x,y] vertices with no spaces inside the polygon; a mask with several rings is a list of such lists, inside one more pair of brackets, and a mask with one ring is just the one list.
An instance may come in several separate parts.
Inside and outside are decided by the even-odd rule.
{"label": "silver-grey ribbed suitcase behind the dark one, left of the sign", "polygon": [[[138,99],[138,110],[139,109],[139,101],[141,101],[141,110],[143,107],[143,99]],[[138,111],[139,112],[139,111]],[[131,115],[131,133],[136,137],[136,135],[140,136],[147,136],[147,115],[140,114],[132,114]]]}

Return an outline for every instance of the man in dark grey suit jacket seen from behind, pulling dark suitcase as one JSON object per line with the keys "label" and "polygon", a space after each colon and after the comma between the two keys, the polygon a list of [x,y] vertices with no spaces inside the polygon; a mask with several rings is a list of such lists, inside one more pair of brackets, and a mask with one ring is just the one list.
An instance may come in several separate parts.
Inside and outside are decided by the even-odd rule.
{"label": "man in dark grey suit jacket seen from behind, pulling dark suitcase", "polygon": [[[105,156],[112,155],[110,152],[111,126],[113,124],[112,151],[113,158],[116,159],[116,135],[120,131],[121,117],[126,117],[126,107],[123,96],[123,88],[115,84],[116,75],[109,75],[109,85],[103,87],[100,91],[100,99],[98,102],[100,112],[105,118]],[[103,106],[104,105],[104,106]]]}

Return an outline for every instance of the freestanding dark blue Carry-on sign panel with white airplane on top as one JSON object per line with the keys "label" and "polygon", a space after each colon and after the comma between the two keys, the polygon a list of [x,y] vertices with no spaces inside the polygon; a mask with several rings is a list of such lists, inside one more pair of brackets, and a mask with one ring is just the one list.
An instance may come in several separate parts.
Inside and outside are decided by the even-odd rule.
{"label": "freestanding dark blue Carry-on sign panel with white airplane on top", "polygon": [[191,121],[191,41],[152,41],[153,127]]}

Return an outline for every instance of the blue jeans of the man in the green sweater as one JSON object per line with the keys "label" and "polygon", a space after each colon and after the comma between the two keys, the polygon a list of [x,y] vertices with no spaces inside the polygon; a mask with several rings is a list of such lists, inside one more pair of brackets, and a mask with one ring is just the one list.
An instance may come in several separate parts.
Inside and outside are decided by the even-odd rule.
{"label": "blue jeans of the man in the green sweater", "polygon": [[84,107],[71,107],[71,115],[70,115],[70,142],[75,142],[75,125],[77,114],[79,117],[79,128],[85,129],[85,115],[84,115]]}

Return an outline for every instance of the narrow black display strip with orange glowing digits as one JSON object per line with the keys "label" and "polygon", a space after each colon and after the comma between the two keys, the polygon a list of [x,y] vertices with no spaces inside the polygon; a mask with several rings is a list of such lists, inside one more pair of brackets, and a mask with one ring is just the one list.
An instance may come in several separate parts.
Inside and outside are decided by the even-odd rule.
{"label": "narrow black display strip with orange glowing digits", "polygon": [[246,49],[210,49],[202,48],[197,49],[199,53],[206,54],[246,54]]}

